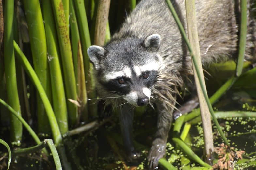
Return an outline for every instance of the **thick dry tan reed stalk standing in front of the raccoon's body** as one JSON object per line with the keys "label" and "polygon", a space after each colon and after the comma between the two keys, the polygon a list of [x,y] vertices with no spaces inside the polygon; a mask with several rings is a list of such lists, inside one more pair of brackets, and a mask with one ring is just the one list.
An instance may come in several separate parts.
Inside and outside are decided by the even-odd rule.
{"label": "thick dry tan reed stalk standing in front of the raccoon's body", "polygon": [[[202,117],[204,153],[205,153],[204,155],[206,156],[205,160],[207,160],[208,162],[213,158],[213,129],[212,129],[211,114],[207,106],[207,103],[205,101],[203,91],[202,91],[202,88],[200,87],[200,82],[198,79],[198,76],[204,77],[204,75],[203,75],[203,66],[202,66],[201,55],[200,55],[198,32],[197,32],[195,0],[186,0],[185,4],[186,4],[188,39],[189,39],[191,48],[195,54],[195,60],[200,70],[199,74],[196,74],[195,66],[192,63],[196,89],[197,89],[197,96],[199,100],[199,106],[200,106],[201,117]],[[206,88],[204,78],[202,78],[202,84],[204,86],[203,88]]]}

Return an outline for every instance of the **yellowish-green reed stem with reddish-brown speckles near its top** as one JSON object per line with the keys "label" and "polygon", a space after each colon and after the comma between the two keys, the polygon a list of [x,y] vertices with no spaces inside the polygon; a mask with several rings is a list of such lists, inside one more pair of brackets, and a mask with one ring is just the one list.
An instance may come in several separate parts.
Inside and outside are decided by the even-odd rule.
{"label": "yellowish-green reed stem with reddish-brown speckles near its top", "polygon": [[[52,6],[56,21],[56,29],[58,32],[58,40],[64,72],[64,82],[66,88],[66,97],[68,99],[77,100],[72,51],[62,1],[52,0]],[[77,106],[69,101],[67,103],[67,106],[69,123],[71,126],[74,126],[78,118]]]}

